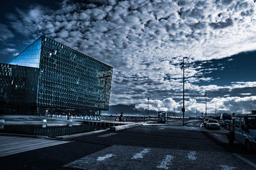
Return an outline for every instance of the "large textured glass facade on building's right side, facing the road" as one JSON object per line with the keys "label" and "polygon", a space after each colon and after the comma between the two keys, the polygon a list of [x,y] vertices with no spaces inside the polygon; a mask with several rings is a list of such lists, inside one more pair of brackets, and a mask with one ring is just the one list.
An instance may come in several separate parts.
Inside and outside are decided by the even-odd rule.
{"label": "large textured glass facade on building's right side, facing the road", "polygon": [[38,106],[108,110],[113,68],[42,38]]}

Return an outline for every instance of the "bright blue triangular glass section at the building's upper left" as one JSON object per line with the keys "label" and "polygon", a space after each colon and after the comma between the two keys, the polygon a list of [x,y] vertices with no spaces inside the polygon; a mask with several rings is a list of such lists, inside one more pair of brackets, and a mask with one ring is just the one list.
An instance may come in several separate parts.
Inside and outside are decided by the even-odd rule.
{"label": "bright blue triangular glass section at the building's upper left", "polygon": [[41,39],[39,38],[29,45],[17,57],[11,60],[9,64],[38,68],[40,63]]}

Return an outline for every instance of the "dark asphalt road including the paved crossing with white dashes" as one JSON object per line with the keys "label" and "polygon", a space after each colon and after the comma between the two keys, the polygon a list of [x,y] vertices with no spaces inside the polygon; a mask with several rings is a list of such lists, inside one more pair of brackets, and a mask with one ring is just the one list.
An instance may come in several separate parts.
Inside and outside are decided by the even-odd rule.
{"label": "dark asphalt road including the paved crossing with white dashes", "polygon": [[148,124],[0,158],[1,169],[253,169],[256,154],[200,122]]}

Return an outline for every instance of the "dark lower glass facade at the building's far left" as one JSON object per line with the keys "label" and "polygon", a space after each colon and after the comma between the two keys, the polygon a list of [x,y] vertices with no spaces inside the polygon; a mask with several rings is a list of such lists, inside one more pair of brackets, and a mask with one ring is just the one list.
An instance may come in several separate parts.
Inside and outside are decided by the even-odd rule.
{"label": "dark lower glass facade at the building's far left", "polygon": [[0,64],[0,113],[35,114],[38,68]]}

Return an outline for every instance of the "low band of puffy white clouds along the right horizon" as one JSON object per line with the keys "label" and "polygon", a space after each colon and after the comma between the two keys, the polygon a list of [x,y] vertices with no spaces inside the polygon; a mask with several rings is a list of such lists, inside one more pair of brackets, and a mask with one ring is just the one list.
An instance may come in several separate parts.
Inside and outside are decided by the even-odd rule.
{"label": "low band of puffy white clouds along the right horizon", "polygon": [[[182,100],[176,103],[172,98],[161,100],[149,100],[147,105],[147,99],[143,100],[142,104],[136,104],[136,109],[144,109],[156,111],[168,111],[176,116],[182,114],[181,108]],[[203,113],[205,115],[205,103],[198,103],[196,99],[189,99],[185,101],[186,116],[201,116]],[[251,113],[251,110],[256,110],[256,96],[252,97],[219,97],[213,98],[207,102],[207,113],[210,115],[215,115],[217,113]]]}

